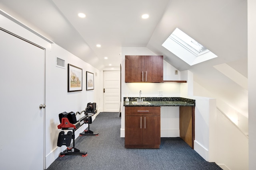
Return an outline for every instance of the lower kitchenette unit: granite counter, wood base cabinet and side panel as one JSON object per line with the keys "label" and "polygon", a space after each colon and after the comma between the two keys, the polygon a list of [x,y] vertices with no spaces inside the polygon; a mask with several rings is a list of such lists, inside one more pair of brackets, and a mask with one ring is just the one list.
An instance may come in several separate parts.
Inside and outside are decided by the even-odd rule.
{"label": "lower kitchenette unit: granite counter, wood base cabinet and side panel", "polygon": [[143,98],[146,101],[143,103],[136,102],[137,98],[129,100],[125,102],[124,98],[126,148],[159,148],[160,107],[179,106],[180,138],[194,149],[195,100],[180,97]]}

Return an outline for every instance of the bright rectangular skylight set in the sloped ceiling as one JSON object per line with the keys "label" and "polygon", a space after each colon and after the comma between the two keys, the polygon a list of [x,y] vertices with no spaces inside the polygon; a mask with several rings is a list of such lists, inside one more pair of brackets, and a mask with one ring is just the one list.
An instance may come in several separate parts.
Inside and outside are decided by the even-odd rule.
{"label": "bright rectangular skylight set in the sloped ceiling", "polygon": [[178,28],[164,41],[162,46],[190,65],[217,57]]}

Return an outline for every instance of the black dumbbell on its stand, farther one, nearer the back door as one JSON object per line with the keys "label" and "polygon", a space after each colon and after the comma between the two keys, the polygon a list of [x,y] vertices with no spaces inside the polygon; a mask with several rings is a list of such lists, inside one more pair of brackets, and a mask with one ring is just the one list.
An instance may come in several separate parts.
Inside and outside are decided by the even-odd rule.
{"label": "black dumbbell on its stand, farther one, nearer the back door", "polygon": [[80,133],[79,136],[98,136],[98,133],[93,133],[93,131],[90,130],[90,124],[92,124],[92,116],[97,113],[96,110],[96,103],[88,103],[87,107],[84,109],[84,115],[88,115],[84,119],[84,123],[88,124],[88,130],[84,130],[84,133]]}

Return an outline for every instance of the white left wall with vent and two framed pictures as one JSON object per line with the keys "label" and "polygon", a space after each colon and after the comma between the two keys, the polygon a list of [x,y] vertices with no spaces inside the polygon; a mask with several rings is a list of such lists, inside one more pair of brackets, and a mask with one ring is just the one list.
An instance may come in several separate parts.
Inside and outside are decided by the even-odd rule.
{"label": "white left wall with vent and two framed pictures", "polygon": [[[96,102],[98,113],[101,111],[100,104],[100,80],[102,77],[94,76],[94,90],[86,91],[86,71],[97,73],[99,70],[92,67],[90,64],[82,61],[78,57],[72,55],[65,49],[56,44],[51,44],[50,41],[45,41],[42,37],[38,37],[27,29],[21,27],[11,20],[6,20],[0,15],[1,27],[19,35],[20,37],[31,41],[46,49],[45,56],[45,168],[48,168],[52,162],[58,157],[58,154],[66,149],[66,146],[57,147],[58,134],[61,131],[57,128],[60,124],[58,114],[64,111],[70,112],[82,111],[86,108],[88,102]],[[21,23],[20,23],[21,24]],[[22,24],[21,24],[22,25]],[[65,67],[56,67],[56,57],[65,60]],[[72,64],[82,68],[82,91],[68,92],[68,69],[67,65]],[[17,84],[18,85],[18,84]],[[43,90],[43,89],[42,89]],[[77,119],[83,116],[77,115]],[[95,119],[94,115],[93,119]],[[76,131],[76,137],[82,133],[88,125],[83,125]],[[44,134],[39,134],[44,135]],[[31,136],[34,137],[33,135]],[[28,139],[30,141],[30,139]]]}

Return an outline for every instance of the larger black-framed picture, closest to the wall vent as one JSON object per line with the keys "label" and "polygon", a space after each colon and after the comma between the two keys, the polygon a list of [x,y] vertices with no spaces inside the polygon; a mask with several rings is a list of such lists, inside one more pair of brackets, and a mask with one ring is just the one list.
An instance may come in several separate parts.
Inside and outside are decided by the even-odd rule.
{"label": "larger black-framed picture, closest to the wall vent", "polygon": [[68,92],[82,91],[82,68],[68,64]]}

